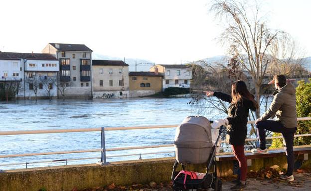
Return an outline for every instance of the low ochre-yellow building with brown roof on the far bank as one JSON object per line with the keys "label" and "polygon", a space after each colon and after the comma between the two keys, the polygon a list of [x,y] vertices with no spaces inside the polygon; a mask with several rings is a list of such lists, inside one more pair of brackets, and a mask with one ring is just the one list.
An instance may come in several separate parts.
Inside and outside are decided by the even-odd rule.
{"label": "low ochre-yellow building with brown roof on the far bank", "polygon": [[158,72],[129,72],[131,97],[153,95],[162,91],[163,74]]}

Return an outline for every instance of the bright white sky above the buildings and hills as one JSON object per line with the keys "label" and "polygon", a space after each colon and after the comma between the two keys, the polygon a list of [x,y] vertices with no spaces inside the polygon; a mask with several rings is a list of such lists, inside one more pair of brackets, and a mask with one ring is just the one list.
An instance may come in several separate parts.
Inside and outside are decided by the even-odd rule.
{"label": "bright white sky above the buildings and hills", "polygon": [[[311,56],[311,0],[259,0],[269,26],[289,32]],[[94,53],[180,64],[225,55],[210,0],[3,0],[0,50],[40,53],[49,42]]]}

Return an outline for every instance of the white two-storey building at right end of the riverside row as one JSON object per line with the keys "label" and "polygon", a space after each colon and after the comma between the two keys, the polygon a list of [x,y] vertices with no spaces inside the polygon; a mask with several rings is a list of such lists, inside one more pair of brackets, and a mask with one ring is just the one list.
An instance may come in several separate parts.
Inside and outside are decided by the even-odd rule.
{"label": "white two-storey building at right end of the riverside row", "polygon": [[162,81],[163,91],[168,87],[190,87],[192,79],[191,66],[160,64],[151,67],[150,71],[164,74]]}

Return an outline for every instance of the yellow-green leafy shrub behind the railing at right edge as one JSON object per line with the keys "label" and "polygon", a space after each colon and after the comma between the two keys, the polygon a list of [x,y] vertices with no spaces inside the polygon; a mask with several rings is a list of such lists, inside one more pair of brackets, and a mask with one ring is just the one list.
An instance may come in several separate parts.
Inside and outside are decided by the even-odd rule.
{"label": "yellow-green leafy shrub behind the railing at right edge", "polygon": [[[298,82],[296,88],[296,109],[297,117],[311,117],[311,78],[309,83],[303,80]],[[299,121],[296,134],[309,134],[311,133],[311,120]],[[273,136],[281,136],[280,133],[273,133]],[[294,145],[309,145],[311,144],[311,136],[296,137]],[[272,148],[282,147],[282,139],[273,139]]]}

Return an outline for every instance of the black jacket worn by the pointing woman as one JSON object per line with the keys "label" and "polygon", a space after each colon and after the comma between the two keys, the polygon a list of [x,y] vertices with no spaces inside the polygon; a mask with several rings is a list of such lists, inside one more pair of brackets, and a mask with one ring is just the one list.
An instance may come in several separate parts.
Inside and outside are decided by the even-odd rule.
{"label": "black jacket worn by the pointing woman", "polygon": [[[217,98],[231,103],[230,95],[214,92]],[[252,101],[241,99],[236,104],[230,104],[228,108],[228,122],[226,140],[232,145],[244,145],[247,135],[247,117],[249,109],[255,111],[256,108]]]}

